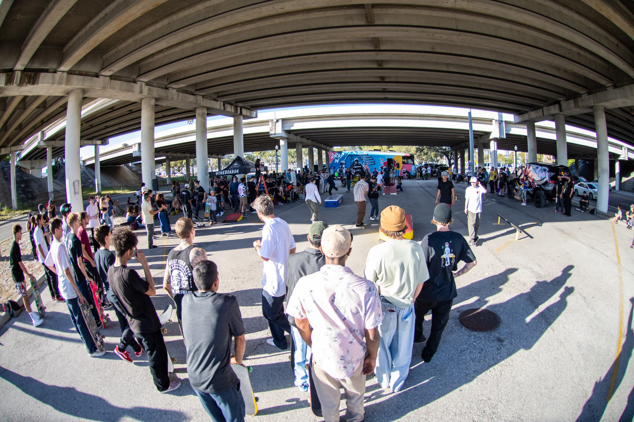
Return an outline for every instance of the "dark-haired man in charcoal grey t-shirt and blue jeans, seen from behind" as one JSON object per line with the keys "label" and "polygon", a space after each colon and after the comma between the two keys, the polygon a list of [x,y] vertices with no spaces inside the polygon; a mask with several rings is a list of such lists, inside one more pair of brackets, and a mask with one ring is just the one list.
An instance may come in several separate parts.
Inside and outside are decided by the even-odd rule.
{"label": "dark-haired man in charcoal grey t-shirt and blue jeans, seen from behind", "polygon": [[[183,297],[183,339],[191,387],[214,421],[244,421],[240,379],[231,364],[242,364],[245,340],[235,296],[218,293],[218,268],[202,260],[193,267],[197,290]],[[235,356],[231,354],[231,337]]]}

